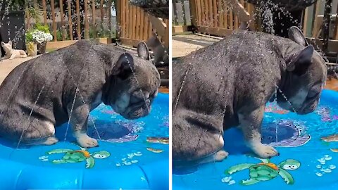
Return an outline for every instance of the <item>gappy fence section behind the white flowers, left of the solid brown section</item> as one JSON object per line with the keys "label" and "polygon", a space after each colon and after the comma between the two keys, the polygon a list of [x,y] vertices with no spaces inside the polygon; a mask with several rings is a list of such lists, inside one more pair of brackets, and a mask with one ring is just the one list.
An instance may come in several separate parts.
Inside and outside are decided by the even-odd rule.
{"label": "gappy fence section behind the white flowers, left of the solid brown section", "polygon": [[67,39],[89,39],[96,37],[112,37],[113,30],[111,6],[101,0],[42,0],[27,1],[26,29],[35,27],[37,23],[49,25],[53,41]]}

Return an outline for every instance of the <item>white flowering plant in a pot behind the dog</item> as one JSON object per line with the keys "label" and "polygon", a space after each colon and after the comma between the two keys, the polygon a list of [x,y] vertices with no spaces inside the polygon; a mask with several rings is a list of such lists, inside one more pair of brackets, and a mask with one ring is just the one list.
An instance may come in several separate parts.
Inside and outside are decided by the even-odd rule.
{"label": "white flowering plant in a pot behind the dog", "polygon": [[27,32],[26,37],[30,39],[30,36],[32,37],[31,42],[37,44],[37,52],[39,54],[46,53],[46,44],[53,39],[51,32],[49,32],[49,26],[37,23],[30,32]]}

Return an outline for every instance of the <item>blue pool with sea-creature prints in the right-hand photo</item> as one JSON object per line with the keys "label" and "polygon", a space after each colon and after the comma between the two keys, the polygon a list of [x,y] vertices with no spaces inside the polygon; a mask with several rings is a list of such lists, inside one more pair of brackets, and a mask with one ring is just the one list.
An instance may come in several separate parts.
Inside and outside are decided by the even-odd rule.
{"label": "blue pool with sea-creature prints in the right-hand photo", "polygon": [[270,160],[250,156],[242,134],[230,129],[224,135],[230,156],[197,168],[174,168],[173,189],[337,189],[338,143],[332,141],[338,141],[337,97],[337,92],[323,91],[320,105],[308,115],[268,103],[262,141],[275,146],[280,156]]}

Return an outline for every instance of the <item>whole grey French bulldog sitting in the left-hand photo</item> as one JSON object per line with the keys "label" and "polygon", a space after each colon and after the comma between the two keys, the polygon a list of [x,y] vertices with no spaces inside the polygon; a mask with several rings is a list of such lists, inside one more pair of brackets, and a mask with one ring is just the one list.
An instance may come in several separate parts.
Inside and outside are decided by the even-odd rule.
{"label": "whole grey French bulldog sitting in the left-hand photo", "polygon": [[151,110],[160,75],[142,57],[82,40],[18,65],[0,87],[0,136],[56,144],[56,127],[70,120],[80,146],[98,146],[87,135],[87,121],[100,103],[130,120]]}

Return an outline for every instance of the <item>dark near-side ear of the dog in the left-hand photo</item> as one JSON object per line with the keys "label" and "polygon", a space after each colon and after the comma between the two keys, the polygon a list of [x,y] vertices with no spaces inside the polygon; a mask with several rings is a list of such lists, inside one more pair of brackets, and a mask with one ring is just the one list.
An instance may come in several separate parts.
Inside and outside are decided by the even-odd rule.
{"label": "dark near-side ear of the dog in the left-hand photo", "polygon": [[123,53],[115,63],[112,75],[120,75],[120,77],[127,77],[134,71],[134,59],[130,53]]}

